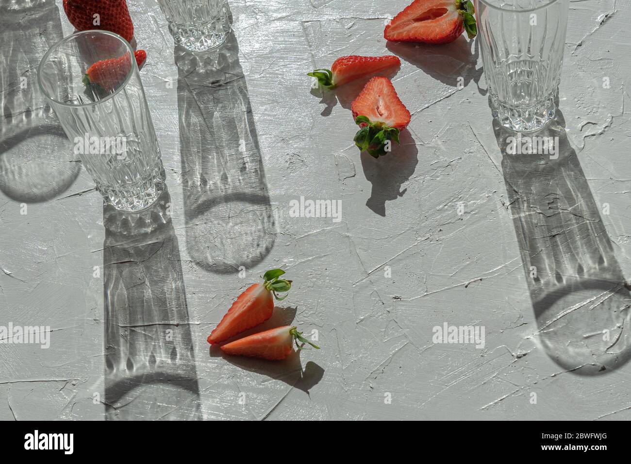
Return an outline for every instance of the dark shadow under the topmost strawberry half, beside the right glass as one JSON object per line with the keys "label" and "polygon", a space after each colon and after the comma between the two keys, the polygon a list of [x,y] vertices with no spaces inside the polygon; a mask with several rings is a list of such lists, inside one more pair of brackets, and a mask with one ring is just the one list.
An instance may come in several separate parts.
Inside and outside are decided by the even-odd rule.
{"label": "dark shadow under the topmost strawberry half, beside the right glass", "polygon": [[480,95],[487,94],[487,89],[480,88],[483,70],[481,66],[479,69],[476,68],[479,56],[478,40],[467,42],[464,35],[461,35],[450,44],[387,42],[386,48],[445,85],[467,86],[474,81]]}

